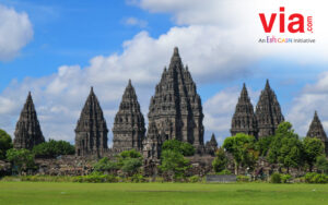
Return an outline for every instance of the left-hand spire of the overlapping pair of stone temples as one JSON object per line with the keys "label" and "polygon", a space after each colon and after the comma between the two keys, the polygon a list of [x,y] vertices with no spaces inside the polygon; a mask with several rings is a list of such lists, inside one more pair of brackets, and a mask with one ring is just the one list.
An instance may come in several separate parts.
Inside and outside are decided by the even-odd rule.
{"label": "left-hand spire of the overlapping pair of stone temples", "polygon": [[236,105],[230,131],[232,135],[245,133],[255,137],[257,136],[256,117],[245,83]]}

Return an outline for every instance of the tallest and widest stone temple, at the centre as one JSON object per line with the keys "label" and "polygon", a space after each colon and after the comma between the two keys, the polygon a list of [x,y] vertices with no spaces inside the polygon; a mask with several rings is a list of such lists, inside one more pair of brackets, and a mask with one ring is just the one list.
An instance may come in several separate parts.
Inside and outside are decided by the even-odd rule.
{"label": "tallest and widest stone temple, at the centre", "polygon": [[155,87],[149,107],[149,123],[155,124],[165,138],[176,138],[203,149],[203,113],[188,67],[184,67],[178,48],[174,48],[168,69]]}

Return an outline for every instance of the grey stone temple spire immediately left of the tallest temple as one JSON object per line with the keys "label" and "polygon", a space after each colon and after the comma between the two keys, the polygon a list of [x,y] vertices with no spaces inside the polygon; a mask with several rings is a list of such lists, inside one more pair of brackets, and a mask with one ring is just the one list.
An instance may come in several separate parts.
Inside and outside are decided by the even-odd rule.
{"label": "grey stone temple spire immediately left of the tallest temple", "polygon": [[114,121],[114,150],[116,153],[132,148],[142,150],[144,133],[144,118],[140,110],[134,87],[131,80],[129,80]]}

